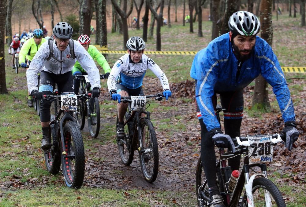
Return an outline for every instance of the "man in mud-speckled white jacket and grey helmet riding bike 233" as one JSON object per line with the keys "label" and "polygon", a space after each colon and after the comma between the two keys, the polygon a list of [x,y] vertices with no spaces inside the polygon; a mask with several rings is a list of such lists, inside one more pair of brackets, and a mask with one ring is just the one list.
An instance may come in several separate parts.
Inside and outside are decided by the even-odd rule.
{"label": "man in mud-speckled white jacket and grey helmet riding bike 233", "polygon": [[[101,87],[99,70],[83,46],[70,39],[73,35],[72,27],[66,22],[59,22],[54,26],[53,33],[55,41],[50,39],[50,46],[49,41],[40,46],[27,70],[29,93],[35,99],[42,99],[43,95],[53,93],[55,84],[58,85],[59,93],[74,93],[71,70],[77,60],[88,73],[93,88],[92,96],[99,97]],[[39,89],[37,88],[38,73],[40,73]],[[47,100],[43,100],[40,105],[43,150],[51,147],[50,106],[51,102]]]}

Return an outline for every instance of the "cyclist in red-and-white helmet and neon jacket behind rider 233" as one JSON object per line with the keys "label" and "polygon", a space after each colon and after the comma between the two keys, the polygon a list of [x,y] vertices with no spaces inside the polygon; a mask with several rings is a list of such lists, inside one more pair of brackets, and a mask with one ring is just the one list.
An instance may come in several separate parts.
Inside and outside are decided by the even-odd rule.
{"label": "cyclist in red-and-white helmet and neon jacket behind rider 233", "polygon": [[[78,41],[84,47],[84,49],[89,53],[92,59],[97,61],[97,63],[103,68],[105,76],[106,78],[108,78],[108,76],[110,75],[110,66],[105,60],[105,57],[99,52],[99,50],[94,45],[90,45],[90,38],[88,37],[88,35],[81,35],[78,38]],[[73,76],[87,75],[87,72],[82,68],[80,63],[76,61],[72,69],[72,74]],[[75,94],[79,94],[80,82],[81,82],[80,79],[73,80]]]}

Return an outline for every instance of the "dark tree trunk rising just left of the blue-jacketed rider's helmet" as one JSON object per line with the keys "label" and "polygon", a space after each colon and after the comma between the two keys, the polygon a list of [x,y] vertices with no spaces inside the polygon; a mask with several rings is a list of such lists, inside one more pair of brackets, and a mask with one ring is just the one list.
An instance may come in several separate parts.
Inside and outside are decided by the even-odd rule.
{"label": "dark tree trunk rising just left of the blue-jacketed rider's helmet", "polygon": [[230,16],[232,16],[232,14],[234,12],[237,12],[239,9],[239,6],[237,7],[237,1],[234,0],[228,0],[226,1],[226,5],[225,5],[225,12],[220,20],[220,34],[223,35],[227,32],[230,31],[229,27],[228,27],[228,21],[230,19]]}

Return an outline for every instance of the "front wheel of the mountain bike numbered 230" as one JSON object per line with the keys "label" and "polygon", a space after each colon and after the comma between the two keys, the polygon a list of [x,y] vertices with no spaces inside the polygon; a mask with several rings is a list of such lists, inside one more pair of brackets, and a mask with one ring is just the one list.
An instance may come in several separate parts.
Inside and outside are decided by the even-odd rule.
{"label": "front wheel of the mountain bike numbered 230", "polygon": [[[267,191],[267,195],[268,195],[266,197],[265,197],[265,191]],[[275,184],[267,178],[258,177],[254,179],[253,187],[252,187],[252,194],[253,194],[253,201],[254,201],[255,207],[257,206],[285,207],[286,206],[281,192],[278,190]],[[243,206],[248,206],[248,202],[246,198],[247,198],[246,193],[244,193],[244,197],[243,197],[244,205]]]}

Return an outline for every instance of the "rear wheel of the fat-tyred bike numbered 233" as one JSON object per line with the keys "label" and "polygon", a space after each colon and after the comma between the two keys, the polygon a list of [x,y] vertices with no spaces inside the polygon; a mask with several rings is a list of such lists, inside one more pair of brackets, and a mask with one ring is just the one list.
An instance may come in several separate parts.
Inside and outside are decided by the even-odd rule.
{"label": "rear wheel of the fat-tyred bike numbered 233", "polygon": [[[51,115],[51,119],[55,118],[54,115]],[[51,127],[51,140],[52,140],[52,147],[49,151],[45,152],[45,162],[46,167],[49,173],[56,175],[59,172],[61,167],[61,156],[59,154],[57,136],[58,136],[58,124],[54,123],[50,125]]]}

